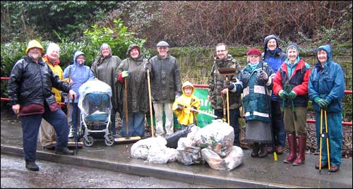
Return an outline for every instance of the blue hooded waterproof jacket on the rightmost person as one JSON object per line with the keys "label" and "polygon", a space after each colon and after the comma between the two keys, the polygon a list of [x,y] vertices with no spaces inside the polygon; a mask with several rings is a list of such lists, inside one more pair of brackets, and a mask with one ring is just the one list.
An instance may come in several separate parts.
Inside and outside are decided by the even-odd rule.
{"label": "blue hooded waterproof jacket on the rightmost person", "polygon": [[328,61],[322,68],[320,61],[315,64],[309,77],[309,98],[313,102],[313,108],[320,112],[320,106],[314,99],[320,97],[328,100],[330,104],[326,111],[342,111],[342,99],[345,94],[345,77],[341,66],[333,61],[330,45],[318,47],[318,50],[325,50],[328,54]]}

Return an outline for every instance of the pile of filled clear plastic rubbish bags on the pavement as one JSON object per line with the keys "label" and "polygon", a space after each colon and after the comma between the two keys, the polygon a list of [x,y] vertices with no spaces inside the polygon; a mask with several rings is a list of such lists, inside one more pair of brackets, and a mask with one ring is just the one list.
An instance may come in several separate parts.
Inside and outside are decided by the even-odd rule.
{"label": "pile of filled clear plastic rubbish bags on the pavement", "polygon": [[[231,171],[243,163],[241,147],[233,146],[234,129],[222,120],[208,126],[188,126],[167,138],[139,140],[131,147],[131,157],[155,164],[178,161],[184,165],[205,164],[212,169]],[[176,149],[175,149],[176,148]]]}

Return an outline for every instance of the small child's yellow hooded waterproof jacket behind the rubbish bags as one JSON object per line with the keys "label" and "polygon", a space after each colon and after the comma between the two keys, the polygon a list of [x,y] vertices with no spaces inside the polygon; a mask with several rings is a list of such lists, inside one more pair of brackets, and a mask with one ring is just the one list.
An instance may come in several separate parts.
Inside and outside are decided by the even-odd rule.
{"label": "small child's yellow hooded waterproof jacket behind the rubbish bags", "polygon": [[[191,107],[196,107],[196,109],[200,109],[200,99],[198,99],[198,97],[196,97],[195,95],[193,95],[193,92],[195,92],[195,87],[193,87],[193,91],[191,92],[190,96],[186,96],[185,92],[184,92],[184,87],[186,86],[191,86],[193,87],[193,85],[189,82],[186,81],[183,86],[181,87],[183,94],[175,99],[175,102],[173,103],[172,109],[174,111],[174,114],[177,115],[179,124],[182,125],[189,125],[191,123],[197,124],[197,112],[191,112],[190,108]],[[183,106],[185,106],[184,109],[179,110],[178,109],[178,104],[181,104]]]}

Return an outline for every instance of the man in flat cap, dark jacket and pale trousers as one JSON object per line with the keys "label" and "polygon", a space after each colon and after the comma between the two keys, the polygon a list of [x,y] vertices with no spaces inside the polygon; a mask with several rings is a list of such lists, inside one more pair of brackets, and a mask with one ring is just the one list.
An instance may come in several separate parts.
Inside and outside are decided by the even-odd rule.
{"label": "man in flat cap, dark jacket and pale trousers", "polygon": [[[162,137],[174,133],[172,104],[181,95],[179,65],[177,59],[171,56],[168,50],[169,44],[167,42],[158,42],[158,54],[153,56],[145,66],[151,73],[156,135]],[[163,111],[165,112],[165,132],[162,120]]]}

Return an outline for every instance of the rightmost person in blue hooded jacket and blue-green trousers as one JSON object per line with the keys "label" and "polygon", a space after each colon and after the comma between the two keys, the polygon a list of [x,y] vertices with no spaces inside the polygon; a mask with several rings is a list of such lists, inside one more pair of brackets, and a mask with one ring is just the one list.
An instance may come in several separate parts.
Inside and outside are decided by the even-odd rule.
{"label": "rightmost person in blue hooded jacket and blue-green trousers", "polygon": [[[341,66],[333,61],[329,45],[318,47],[318,62],[309,77],[309,98],[313,102],[316,112],[317,144],[321,137],[321,110],[327,111],[328,138],[330,147],[330,172],[340,169],[342,158],[342,99],[345,94],[345,77]],[[323,115],[324,116],[324,115]],[[323,118],[323,133],[325,133],[325,119]],[[322,138],[321,168],[328,168],[328,152],[325,138]],[[318,145],[319,146],[319,145]],[[316,164],[319,169],[319,164]]]}

